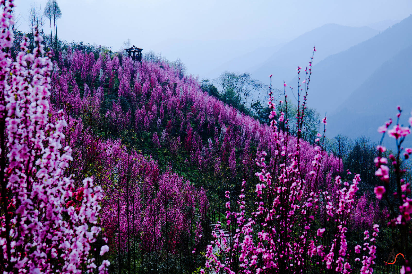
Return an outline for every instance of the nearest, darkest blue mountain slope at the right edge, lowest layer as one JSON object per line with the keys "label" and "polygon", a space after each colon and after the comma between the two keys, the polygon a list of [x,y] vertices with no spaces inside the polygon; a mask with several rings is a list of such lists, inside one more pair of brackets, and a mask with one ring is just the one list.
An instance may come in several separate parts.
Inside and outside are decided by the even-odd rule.
{"label": "nearest, darkest blue mountain slope at the right edge, lowest layer", "polygon": [[401,121],[406,125],[412,109],[411,72],[412,46],[409,46],[381,65],[337,108],[339,111],[328,118],[328,136],[365,135],[377,142],[381,137],[377,128],[389,117],[396,121],[398,105],[403,109]]}

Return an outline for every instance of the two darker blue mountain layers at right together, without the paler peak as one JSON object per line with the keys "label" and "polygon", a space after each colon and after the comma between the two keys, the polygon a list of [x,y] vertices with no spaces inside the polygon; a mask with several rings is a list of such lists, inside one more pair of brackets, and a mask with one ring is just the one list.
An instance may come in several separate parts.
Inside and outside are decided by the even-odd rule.
{"label": "two darker blue mountain layers at right together, without the paler peak", "polygon": [[[411,37],[412,16],[409,16],[375,37],[314,65],[308,106],[322,115],[327,112],[331,117],[328,136],[346,132],[349,136],[366,135],[376,141],[374,119],[377,124],[383,124],[396,115],[398,104],[410,98],[411,89],[405,85],[407,76],[404,74],[411,70],[407,63]],[[400,75],[404,75],[403,79]],[[402,80],[404,86],[400,87]],[[290,84],[296,81],[297,77]],[[384,107],[382,102],[391,102],[391,105]],[[407,112],[409,107],[403,106]],[[382,114],[379,117],[370,116],[379,111]]]}

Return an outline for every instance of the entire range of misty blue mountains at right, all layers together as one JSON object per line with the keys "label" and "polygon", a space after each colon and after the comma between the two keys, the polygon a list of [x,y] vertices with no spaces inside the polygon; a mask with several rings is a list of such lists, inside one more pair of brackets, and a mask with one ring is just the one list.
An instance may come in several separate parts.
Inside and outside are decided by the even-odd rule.
{"label": "entire range of misty blue mountains at right, all layers together", "polygon": [[[377,127],[396,116],[400,100],[408,102],[402,106],[405,117],[412,102],[412,93],[405,86],[407,81],[401,81],[407,79],[405,73],[412,69],[408,67],[412,17],[393,23],[396,21],[384,20],[365,27],[326,24],[290,42],[248,53],[238,51],[239,46],[236,50],[239,57],[230,60],[226,57],[225,63],[204,78],[215,79],[225,70],[251,72],[252,77],[268,84],[267,75],[273,73],[274,88],[282,88],[283,79],[292,79],[286,83],[296,88],[295,69],[297,65],[307,65],[316,45],[308,107],[321,116],[327,112],[329,138],[342,133],[349,137],[365,135],[378,141]],[[385,26],[391,27],[379,32]],[[202,44],[205,49],[209,46]],[[391,85],[396,92],[391,91]],[[289,87],[287,91],[290,93]]]}

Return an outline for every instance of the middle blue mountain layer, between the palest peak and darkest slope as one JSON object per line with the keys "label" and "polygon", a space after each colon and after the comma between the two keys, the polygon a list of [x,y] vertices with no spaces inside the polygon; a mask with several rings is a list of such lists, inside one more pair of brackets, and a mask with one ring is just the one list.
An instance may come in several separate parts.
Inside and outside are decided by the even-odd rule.
{"label": "middle blue mountain layer, between the palest peak and darkest slope", "polygon": [[[379,67],[411,45],[412,16],[409,16],[375,37],[325,58],[313,68],[308,95],[309,107],[316,108],[322,115],[325,111],[328,116],[336,114],[342,102],[353,92],[356,95],[358,88]],[[318,58],[320,52],[321,50],[316,52],[315,58]],[[296,78],[290,84],[295,81]],[[407,82],[408,79],[404,81]],[[403,92],[405,94],[407,91]],[[365,104],[369,104],[369,100]]]}

